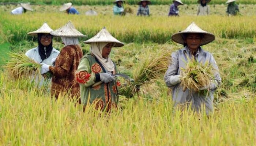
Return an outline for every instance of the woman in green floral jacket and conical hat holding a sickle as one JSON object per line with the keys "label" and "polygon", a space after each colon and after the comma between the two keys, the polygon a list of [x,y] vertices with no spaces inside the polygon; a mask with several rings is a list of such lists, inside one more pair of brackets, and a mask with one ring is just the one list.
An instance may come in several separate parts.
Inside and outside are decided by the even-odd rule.
{"label": "woman in green floral jacket and conical hat holding a sickle", "polygon": [[[81,59],[76,71],[81,101],[84,105],[95,104],[95,108],[109,112],[118,103],[117,83],[112,77],[118,73],[118,69],[109,54],[112,47],[124,44],[112,37],[105,28],[84,43],[91,45],[91,54]],[[94,86],[99,81],[103,83]]]}

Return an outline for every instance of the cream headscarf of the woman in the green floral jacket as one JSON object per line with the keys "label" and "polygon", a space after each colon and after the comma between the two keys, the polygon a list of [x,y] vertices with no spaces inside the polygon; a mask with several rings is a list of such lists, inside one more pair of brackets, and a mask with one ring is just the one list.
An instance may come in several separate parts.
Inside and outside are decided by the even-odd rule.
{"label": "cream headscarf of the woman in the green floral jacket", "polygon": [[93,53],[99,62],[103,65],[103,67],[109,71],[113,72],[114,71],[114,63],[113,61],[108,57],[108,58],[103,58],[102,57],[102,50],[103,47],[105,47],[109,42],[95,42],[91,43],[91,53]]}

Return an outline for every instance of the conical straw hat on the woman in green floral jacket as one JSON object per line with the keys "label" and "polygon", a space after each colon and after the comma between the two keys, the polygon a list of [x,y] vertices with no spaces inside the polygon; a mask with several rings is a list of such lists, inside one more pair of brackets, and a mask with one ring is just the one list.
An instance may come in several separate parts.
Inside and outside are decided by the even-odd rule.
{"label": "conical straw hat on the woman in green floral jacket", "polygon": [[91,43],[96,43],[96,42],[110,42],[110,43],[115,43],[113,47],[122,47],[124,46],[124,43],[118,41],[116,38],[114,38],[108,30],[104,27],[101,31],[98,32],[97,35],[94,37],[90,38],[87,41],[84,41],[83,43],[86,44],[91,44]]}

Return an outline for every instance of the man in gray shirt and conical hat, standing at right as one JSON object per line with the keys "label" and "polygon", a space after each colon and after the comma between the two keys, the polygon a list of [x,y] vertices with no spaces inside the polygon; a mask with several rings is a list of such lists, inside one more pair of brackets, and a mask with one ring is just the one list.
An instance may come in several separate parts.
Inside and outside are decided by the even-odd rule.
{"label": "man in gray shirt and conical hat, standing at right", "polygon": [[[165,73],[164,80],[167,87],[172,89],[172,98],[174,106],[191,104],[195,111],[200,111],[205,106],[206,114],[213,111],[213,93],[221,84],[219,69],[214,57],[211,53],[202,49],[206,45],[214,41],[215,36],[209,32],[203,31],[195,23],[192,23],[184,31],[172,35],[174,42],[184,45],[184,48],[172,53],[171,62],[168,70]],[[199,94],[197,91],[186,89],[182,91],[180,86],[181,68],[186,67],[186,63],[191,58],[195,58],[199,63],[212,65],[214,70],[214,78],[211,79],[211,84],[208,87],[203,87],[199,90],[208,89],[207,95]]]}

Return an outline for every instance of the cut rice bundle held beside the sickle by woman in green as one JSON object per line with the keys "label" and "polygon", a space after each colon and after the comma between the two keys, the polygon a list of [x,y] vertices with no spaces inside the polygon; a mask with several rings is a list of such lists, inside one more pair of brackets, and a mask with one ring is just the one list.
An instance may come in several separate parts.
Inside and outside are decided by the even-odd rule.
{"label": "cut rice bundle held beside the sickle by woman in green", "polygon": [[140,86],[153,83],[161,74],[165,73],[169,56],[164,50],[157,54],[148,53],[144,60],[139,62],[133,70],[133,81],[119,89],[121,95],[133,97],[139,92]]}

